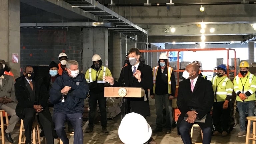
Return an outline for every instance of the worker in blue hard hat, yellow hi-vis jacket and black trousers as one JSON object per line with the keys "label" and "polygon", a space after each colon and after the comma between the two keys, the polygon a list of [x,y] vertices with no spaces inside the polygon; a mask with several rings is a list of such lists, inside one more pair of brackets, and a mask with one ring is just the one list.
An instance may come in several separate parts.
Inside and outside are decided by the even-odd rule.
{"label": "worker in blue hard hat, yellow hi-vis jacket and black trousers", "polygon": [[212,88],[215,96],[212,113],[215,127],[213,136],[227,136],[231,110],[228,103],[232,100],[233,83],[227,77],[226,65],[217,66],[217,76],[212,78]]}

